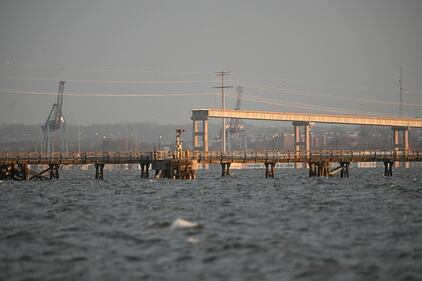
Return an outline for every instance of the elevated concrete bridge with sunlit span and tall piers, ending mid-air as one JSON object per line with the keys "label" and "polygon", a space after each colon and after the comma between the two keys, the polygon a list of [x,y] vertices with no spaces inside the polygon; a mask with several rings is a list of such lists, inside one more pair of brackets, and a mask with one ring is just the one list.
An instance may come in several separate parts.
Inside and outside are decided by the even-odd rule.
{"label": "elevated concrete bridge with sunlit span and tall piers, ending mid-air", "polygon": [[[246,120],[288,121],[294,127],[295,153],[300,154],[304,150],[311,152],[310,125],[313,123],[344,124],[344,125],[367,125],[387,126],[393,132],[393,145],[396,151],[409,151],[409,128],[422,128],[422,119],[391,118],[362,115],[333,115],[333,114],[310,114],[290,112],[267,112],[249,110],[227,109],[193,109],[193,147],[194,150],[208,152],[208,120],[210,118],[234,118]],[[202,131],[199,131],[199,122],[202,122]],[[303,128],[305,141],[301,142],[301,128]],[[399,141],[401,133],[402,141]],[[199,137],[202,137],[202,146],[199,146]]]}

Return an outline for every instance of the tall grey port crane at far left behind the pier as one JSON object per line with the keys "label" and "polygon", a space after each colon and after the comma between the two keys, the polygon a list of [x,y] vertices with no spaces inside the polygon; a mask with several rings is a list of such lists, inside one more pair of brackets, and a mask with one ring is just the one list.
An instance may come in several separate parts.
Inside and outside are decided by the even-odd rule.
{"label": "tall grey port crane at far left behind the pier", "polygon": [[[66,136],[66,121],[63,115],[63,92],[66,81],[59,81],[57,102],[53,104],[50,114],[44,124],[41,125],[44,147],[46,152],[54,152],[54,141],[61,140],[61,151],[68,151]],[[57,134],[59,133],[59,135]]]}

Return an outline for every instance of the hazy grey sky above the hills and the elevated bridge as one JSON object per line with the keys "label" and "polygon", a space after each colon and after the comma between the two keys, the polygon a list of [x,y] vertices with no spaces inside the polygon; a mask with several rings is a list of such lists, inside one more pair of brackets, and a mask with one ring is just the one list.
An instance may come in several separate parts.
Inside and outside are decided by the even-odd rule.
{"label": "hazy grey sky above the hills and the elevated bridge", "polygon": [[420,0],[1,0],[0,123],[190,122],[194,108],[422,118]]}

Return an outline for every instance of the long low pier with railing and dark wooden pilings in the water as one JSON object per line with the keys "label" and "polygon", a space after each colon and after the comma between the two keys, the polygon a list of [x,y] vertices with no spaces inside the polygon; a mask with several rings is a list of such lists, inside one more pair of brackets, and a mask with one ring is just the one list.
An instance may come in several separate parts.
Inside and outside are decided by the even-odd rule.
{"label": "long low pier with railing and dark wooden pilings in the water", "polygon": [[[104,165],[139,164],[141,178],[149,177],[155,170],[156,178],[194,179],[200,164],[221,165],[222,176],[230,174],[233,163],[261,163],[265,165],[265,176],[274,177],[277,163],[295,163],[307,166],[309,176],[349,176],[349,165],[356,162],[382,162],[384,175],[393,175],[393,164],[397,162],[422,162],[419,150],[319,150],[309,152],[286,151],[233,151],[233,152],[87,152],[87,153],[0,153],[0,180],[44,180],[58,179],[64,165],[95,166],[95,178],[104,179]],[[338,166],[332,168],[331,163]],[[43,165],[40,171],[31,165]]]}

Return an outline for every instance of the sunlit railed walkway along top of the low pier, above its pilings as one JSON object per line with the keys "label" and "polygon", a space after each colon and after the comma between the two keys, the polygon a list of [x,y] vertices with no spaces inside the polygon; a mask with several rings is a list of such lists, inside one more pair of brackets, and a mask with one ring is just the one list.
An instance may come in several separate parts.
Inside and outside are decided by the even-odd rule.
{"label": "sunlit railed walkway along top of the low pier, above its pilings", "polygon": [[[133,164],[153,160],[175,159],[172,151],[154,152],[0,152],[0,163],[19,164]],[[199,163],[307,163],[329,162],[414,162],[422,161],[421,150],[314,150],[310,152],[289,151],[232,151],[221,153],[185,151],[182,158]]]}

